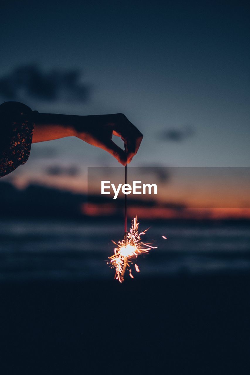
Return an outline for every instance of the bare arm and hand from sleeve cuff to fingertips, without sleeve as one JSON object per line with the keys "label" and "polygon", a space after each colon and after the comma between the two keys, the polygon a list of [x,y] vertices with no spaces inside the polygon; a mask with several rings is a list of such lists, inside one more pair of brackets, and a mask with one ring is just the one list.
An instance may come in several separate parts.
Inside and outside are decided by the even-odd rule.
{"label": "bare arm and hand from sleeve cuff to fingertips, without sleeve", "polygon": [[[112,141],[120,136],[127,153]],[[113,155],[122,165],[130,163],[142,141],[142,133],[121,113],[111,115],[75,116],[38,113],[32,142],[77,136]]]}

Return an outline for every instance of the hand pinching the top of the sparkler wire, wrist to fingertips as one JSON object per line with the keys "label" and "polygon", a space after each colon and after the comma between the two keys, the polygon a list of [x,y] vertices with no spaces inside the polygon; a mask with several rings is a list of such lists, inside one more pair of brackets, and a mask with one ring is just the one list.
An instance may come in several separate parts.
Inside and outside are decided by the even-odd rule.
{"label": "hand pinching the top of the sparkler wire, wrist to fingertips", "polygon": [[[76,135],[93,146],[102,148],[113,155],[119,163],[130,163],[137,153],[143,135],[122,113],[111,115],[80,116]],[[112,141],[112,136],[122,138],[125,150]]]}

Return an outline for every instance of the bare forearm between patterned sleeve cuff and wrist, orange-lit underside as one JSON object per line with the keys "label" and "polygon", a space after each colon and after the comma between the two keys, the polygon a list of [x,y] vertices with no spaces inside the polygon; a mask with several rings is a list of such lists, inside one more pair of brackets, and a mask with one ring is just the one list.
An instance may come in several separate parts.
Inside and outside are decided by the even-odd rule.
{"label": "bare forearm between patterned sleeve cuff and wrist, orange-lit underside", "polygon": [[84,116],[38,113],[35,118],[32,142],[50,141],[77,136],[77,124]]}

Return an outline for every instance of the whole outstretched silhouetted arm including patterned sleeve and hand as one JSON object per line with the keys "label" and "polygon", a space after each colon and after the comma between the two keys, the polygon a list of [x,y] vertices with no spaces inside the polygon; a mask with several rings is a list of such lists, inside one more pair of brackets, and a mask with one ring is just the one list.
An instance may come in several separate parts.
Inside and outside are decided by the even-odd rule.
{"label": "whole outstretched silhouetted arm including patterned sleeve and hand", "polygon": [[[112,141],[122,138],[126,149]],[[75,116],[32,111],[19,102],[0,105],[0,177],[24,164],[32,142],[76,136],[113,155],[122,165],[130,163],[142,141],[142,133],[122,113]]]}

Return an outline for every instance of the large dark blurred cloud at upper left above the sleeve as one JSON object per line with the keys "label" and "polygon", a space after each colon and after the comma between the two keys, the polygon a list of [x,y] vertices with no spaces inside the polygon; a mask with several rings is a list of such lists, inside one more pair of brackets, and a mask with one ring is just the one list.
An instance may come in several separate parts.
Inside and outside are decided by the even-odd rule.
{"label": "large dark blurred cloud at upper left above the sleeve", "polygon": [[5,100],[21,100],[25,95],[45,101],[86,101],[89,87],[81,81],[77,70],[52,69],[44,72],[39,66],[20,66],[0,77],[0,95]]}

